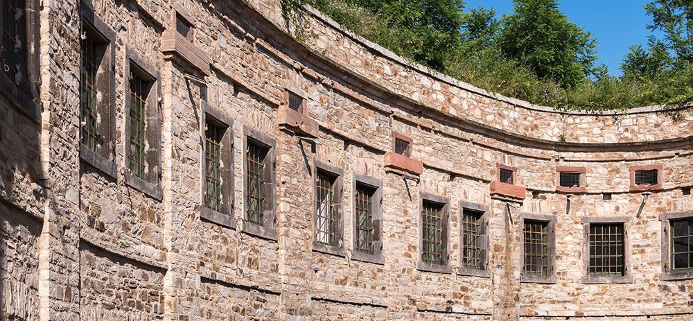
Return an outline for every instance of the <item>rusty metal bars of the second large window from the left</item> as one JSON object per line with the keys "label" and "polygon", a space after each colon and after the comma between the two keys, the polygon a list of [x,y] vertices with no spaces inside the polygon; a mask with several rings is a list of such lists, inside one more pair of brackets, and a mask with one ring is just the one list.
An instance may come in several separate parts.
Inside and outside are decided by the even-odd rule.
{"label": "rusty metal bars of the second large window from the left", "polygon": [[82,77],[80,95],[80,130],[82,144],[96,152],[98,147],[98,113],[96,105],[96,74],[98,73],[97,44],[92,37],[82,40]]}

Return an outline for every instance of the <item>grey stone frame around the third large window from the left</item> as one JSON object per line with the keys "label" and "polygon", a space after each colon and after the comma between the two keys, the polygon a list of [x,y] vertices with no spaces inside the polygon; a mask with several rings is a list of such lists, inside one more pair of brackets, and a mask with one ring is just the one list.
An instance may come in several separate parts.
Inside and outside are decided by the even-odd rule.
{"label": "grey stone frame around the third large window from the left", "polygon": [[[150,121],[145,123],[145,139],[149,146],[146,150],[146,164],[148,166],[148,174],[145,178],[137,177],[131,173],[128,166],[130,157],[130,80],[129,75],[132,67],[137,68],[137,72],[142,73],[144,78],[149,78],[152,82],[152,87],[147,96],[146,117]],[[124,173],[125,184],[134,189],[145,193],[146,195],[161,200],[164,197],[164,191],[161,187],[161,76],[159,70],[150,64],[143,55],[132,49],[130,46],[125,47],[125,67],[123,76],[125,77],[125,103],[123,104],[123,116],[125,117],[125,135],[123,139],[123,155],[124,155]],[[153,123],[152,123],[153,122]]]}

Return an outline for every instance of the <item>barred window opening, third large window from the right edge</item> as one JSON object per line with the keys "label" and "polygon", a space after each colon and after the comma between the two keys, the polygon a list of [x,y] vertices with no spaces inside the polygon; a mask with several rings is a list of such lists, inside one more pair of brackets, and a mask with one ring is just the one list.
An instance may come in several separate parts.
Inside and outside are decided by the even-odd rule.
{"label": "barred window opening, third large window from the right edge", "polygon": [[523,225],[524,275],[547,277],[550,275],[549,223],[525,220]]}

